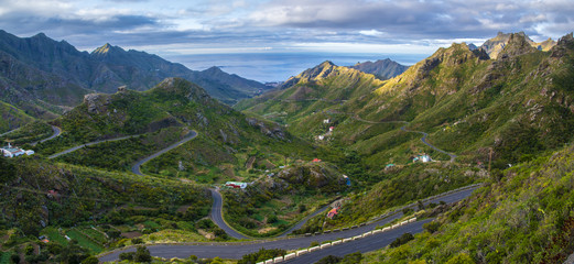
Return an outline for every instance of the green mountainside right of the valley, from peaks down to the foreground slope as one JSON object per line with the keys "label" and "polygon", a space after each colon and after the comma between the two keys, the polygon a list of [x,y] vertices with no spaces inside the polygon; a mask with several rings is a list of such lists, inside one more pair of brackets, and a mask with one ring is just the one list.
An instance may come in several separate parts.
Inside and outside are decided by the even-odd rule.
{"label": "green mountainside right of the valley, from peaks down to the foreground slope", "polygon": [[[441,190],[487,180],[570,144],[573,58],[572,34],[548,52],[533,47],[523,34],[511,34],[497,59],[453,44],[379,86],[369,82],[369,89],[361,89],[361,78],[342,81],[350,75],[343,77],[325,63],[286,88],[237,107],[267,113],[304,139],[358,154],[351,176],[372,184],[365,185],[362,195],[350,195],[338,218],[325,223],[348,227]],[[347,97],[338,94],[340,87],[351,88]],[[457,154],[454,163],[423,144],[421,133],[409,131],[429,133],[427,142]],[[443,162],[413,164],[421,153]],[[315,222],[304,229],[324,228]]]}

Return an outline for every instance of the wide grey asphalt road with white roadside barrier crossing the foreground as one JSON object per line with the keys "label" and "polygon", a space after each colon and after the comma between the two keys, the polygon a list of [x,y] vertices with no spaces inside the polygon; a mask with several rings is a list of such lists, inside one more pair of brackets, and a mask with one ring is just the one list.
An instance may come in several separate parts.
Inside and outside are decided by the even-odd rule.
{"label": "wide grey asphalt road with white roadside barrier crossing the foreground", "polygon": [[[442,197],[437,197],[434,199],[429,199],[425,201],[425,204],[434,202],[437,204],[440,201],[445,201],[447,204],[457,202],[468,196],[478,187],[472,187],[468,189],[464,189],[461,191],[456,191],[453,194],[448,194]],[[415,206],[415,205],[411,205]],[[396,219],[399,219],[402,217],[402,211],[399,210],[393,215],[388,216],[387,218],[380,219],[378,221],[371,222],[369,224],[358,227],[355,229],[349,229],[345,231],[334,231],[329,233],[324,233],[320,235],[312,235],[312,237],[296,237],[296,238],[290,238],[290,239],[278,239],[278,240],[271,240],[271,241],[252,241],[252,242],[227,242],[227,243],[194,243],[194,244],[169,244],[169,245],[150,245],[148,249],[150,250],[150,253],[154,256],[160,257],[181,257],[185,258],[189,255],[196,255],[202,258],[207,257],[215,257],[219,256],[223,258],[241,258],[242,255],[253,253],[259,251],[261,248],[266,249],[284,249],[284,250],[296,250],[301,248],[307,248],[311,245],[312,242],[324,242],[324,241],[333,241],[342,238],[349,238],[362,234],[367,231],[373,230],[377,227],[388,224],[392,222]],[[393,241],[396,238],[400,237],[404,232],[411,232],[416,233],[422,231],[422,224],[424,222],[427,222],[431,220],[423,220],[414,223],[409,223],[405,226],[402,226],[400,228],[393,229],[392,231],[383,232],[381,234],[373,234],[369,238],[357,240],[354,242],[345,243],[343,246],[346,248],[346,250],[343,250],[343,248],[333,246],[333,250],[342,249],[340,253],[344,253],[346,251],[350,251],[349,253],[361,251],[361,252],[368,252],[377,249],[385,248],[387,244],[389,244],[391,241]],[[331,250],[331,249],[329,249]],[[329,250],[325,250],[325,252],[328,254],[333,254]],[[119,257],[119,254],[122,252],[131,252],[134,251],[133,248],[123,250],[123,251],[116,251],[108,255],[104,255],[99,257],[100,262],[111,262],[116,261]],[[322,250],[323,251],[323,250]],[[315,254],[324,254],[322,251],[308,253],[308,256],[302,256],[300,260],[294,260],[295,262],[289,262],[289,263],[311,263],[315,257],[318,257],[316,260],[320,260],[323,257],[322,255],[314,256]],[[348,253],[346,253],[348,254]],[[310,261],[305,261],[304,257],[313,257]]]}

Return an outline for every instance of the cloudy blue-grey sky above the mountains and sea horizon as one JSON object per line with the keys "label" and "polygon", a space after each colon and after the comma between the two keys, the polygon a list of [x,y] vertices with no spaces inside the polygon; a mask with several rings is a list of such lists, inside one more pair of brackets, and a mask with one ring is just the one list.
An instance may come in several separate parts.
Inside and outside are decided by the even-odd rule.
{"label": "cloudy blue-grey sky above the mountains and sea horizon", "polygon": [[498,31],[534,41],[574,29],[572,0],[0,0],[0,29],[78,50],[105,43],[189,54],[431,54]]}

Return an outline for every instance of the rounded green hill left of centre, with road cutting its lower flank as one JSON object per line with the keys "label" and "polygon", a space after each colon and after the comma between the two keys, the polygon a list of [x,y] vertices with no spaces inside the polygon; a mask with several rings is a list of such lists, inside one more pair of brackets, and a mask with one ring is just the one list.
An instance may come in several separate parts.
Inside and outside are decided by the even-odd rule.
{"label": "rounded green hill left of centre, with road cutting its lower flank", "polygon": [[[143,92],[88,95],[84,103],[54,123],[64,132],[53,141],[39,144],[42,154],[97,140],[139,135],[83,148],[78,152],[80,155],[59,157],[74,164],[115,169],[129,169],[137,160],[195,130],[197,139],[145,164],[143,170],[172,177],[198,177],[204,183],[234,179],[236,174],[237,179],[256,177],[245,165],[256,153],[275,164],[283,163],[288,156],[310,158],[315,153],[308,143],[291,136],[281,127],[248,118],[212,99],[198,86],[177,78],[166,79]],[[227,177],[218,176],[228,168],[232,173]],[[208,175],[202,176],[204,174]]]}

